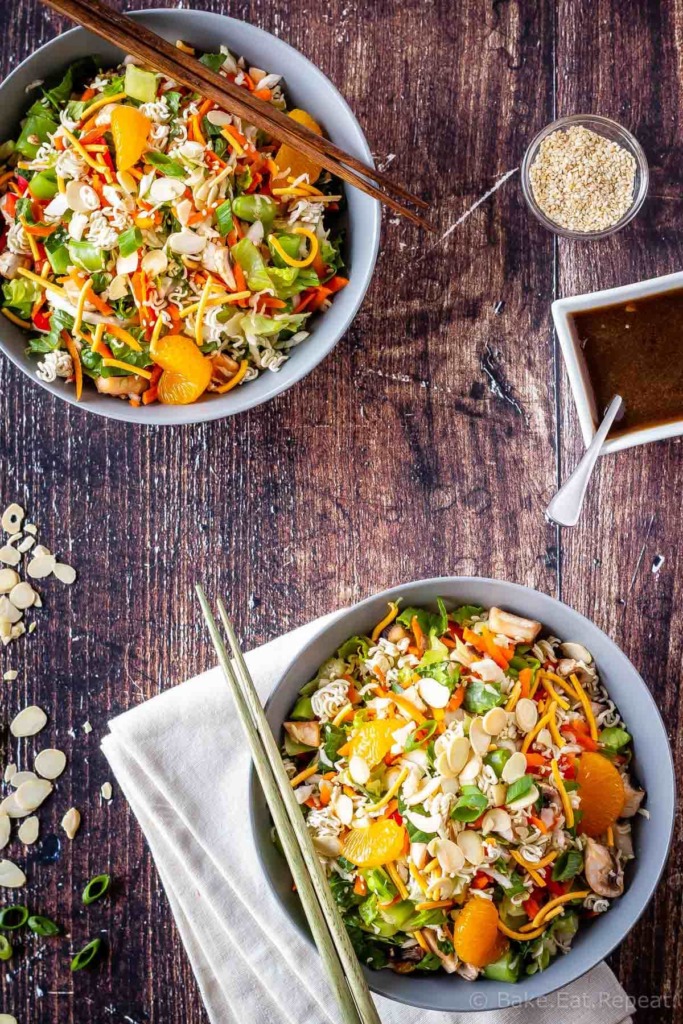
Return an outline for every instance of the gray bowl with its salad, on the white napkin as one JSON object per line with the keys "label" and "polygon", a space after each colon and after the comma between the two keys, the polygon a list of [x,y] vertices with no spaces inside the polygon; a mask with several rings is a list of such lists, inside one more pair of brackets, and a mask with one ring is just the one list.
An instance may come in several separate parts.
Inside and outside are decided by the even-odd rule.
{"label": "gray bowl with its salad, on the white napkin", "polygon": [[[461,1012],[547,995],[656,888],[676,797],[661,718],[612,641],[545,594],[446,578],[369,598],[303,648],[266,711],[375,992]],[[253,771],[250,808],[307,935]]]}

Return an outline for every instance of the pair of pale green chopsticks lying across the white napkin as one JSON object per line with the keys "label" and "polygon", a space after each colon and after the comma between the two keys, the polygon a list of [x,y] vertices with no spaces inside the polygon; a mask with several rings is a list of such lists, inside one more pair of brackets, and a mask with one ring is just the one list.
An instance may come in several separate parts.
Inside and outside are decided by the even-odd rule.
{"label": "pair of pale green chopsticks lying across the white napkin", "polygon": [[259,781],[315,945],[337,996],[344,1024],[381,1024],[362,969],[332,898],[225,607],[219,600],[218,610],[232,646],[238,674],[218,632],[204,590],[199,585],[196,590],[216,654],[247,735]]}

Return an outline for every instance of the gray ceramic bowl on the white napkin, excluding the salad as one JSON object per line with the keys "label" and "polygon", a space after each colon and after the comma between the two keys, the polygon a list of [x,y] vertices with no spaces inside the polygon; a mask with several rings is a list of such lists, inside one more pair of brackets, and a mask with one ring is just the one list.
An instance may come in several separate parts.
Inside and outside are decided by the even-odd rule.
{"label": "gray ceramic bowl on the white napkin, excluding the salad", "polygon": [[[391,971],[366,971],[371,989],[390,999],[440,1011],[482,1011],[538,998],[567,985],[603,959],[630,932],[657,885],[671,842],[676,786],[667,732],[647,686],[624,653],[583,615],[559,601],[516,584],[468,577],[426,580],[407,584],[371,597],[343,611],[317,634],[286,670],[267,705],[268,722],[281,737],[300,686],[311,679],[326,658],[348,637],[369,633],[386,613],[387,601],[402,597],[405,605],[431,605],[436,597],[446,605],[499,605],[538,618],[544,629],[563,640],[578,640],[593,653],[600,675],[633,733],[634,772],[647,791],[645,807],[650,817],[634,819],[636,860],[629,865],[627,887],[621,899],[603,916],[581,928],[566,956],[558,956],[541,974],[517,984],[495,981],[467,982],[455,975],[398,975]],[[270,822],[263,795],[252,771],[251,825],[263,870],[285,910],[297,928],[308,930],[285,860],[270,841]]]}

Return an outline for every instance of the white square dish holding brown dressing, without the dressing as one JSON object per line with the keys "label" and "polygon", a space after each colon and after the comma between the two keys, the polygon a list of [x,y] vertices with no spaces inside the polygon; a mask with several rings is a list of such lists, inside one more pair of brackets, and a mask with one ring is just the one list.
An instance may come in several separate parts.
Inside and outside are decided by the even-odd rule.
{"label": "white square dish holding brown dressing, without the dressing", "polygon": [[[664,278],[651,278],[634,285],[624,285],[622,288],[609,288],[602,292],[589,292],[586,295],[574,295],[553,302],[552,312],[555,330],[564,356],[564,364],[569,375],[569,384],[579,414],[579,423],[586,445],[590,444],[597,430],[599,418],[604,410],[596,408],[593,387],[588,375],[586,360],[577,336],[572,313],[601,306],[616,305],[630,300],[642,299],[645,296],[657,295],[683,288],[683,272],[669,273]],[[660,423],[651,427],[629,430],[620,436],[605,441],[603,454],[621,452],[635,444],[646,444],[649,441],[659,441],[667,437],[678,437],[683,434],[683,418],[669,423]]]}

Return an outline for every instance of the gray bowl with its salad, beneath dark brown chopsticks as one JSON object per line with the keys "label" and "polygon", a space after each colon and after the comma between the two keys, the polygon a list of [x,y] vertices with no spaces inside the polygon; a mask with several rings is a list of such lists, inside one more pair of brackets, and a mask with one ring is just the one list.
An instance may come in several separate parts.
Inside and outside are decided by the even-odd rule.
{"label": "gray bowl with its salad, beneath dark brown chopsticks", "polygon": [[[133,16],[372,163],[340,93],[282,40],[209,12]],[[0,142],[18,140],[0,177],[0,347],[52,394],[115,419],[243,412],[306,376],[348,328],[377,258],[379,204],[326,172],[302,176],[291,154],[148,70],[113,73],[124,56],[74,29],[0,86]],[[178,355],[164,335],[197,351],[182,343]]]}

